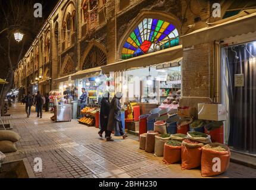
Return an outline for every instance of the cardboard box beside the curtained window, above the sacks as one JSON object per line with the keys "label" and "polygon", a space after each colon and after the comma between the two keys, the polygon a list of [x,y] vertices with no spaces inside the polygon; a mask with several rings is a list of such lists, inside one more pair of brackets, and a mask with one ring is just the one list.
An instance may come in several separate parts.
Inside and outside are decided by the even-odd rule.
{"label": "cardboard box beside the curtained window, above the sacks", "polygon": [[226,121],[227,109],[225,105],[221,104],[198,104],[198,119],[208,121]]}

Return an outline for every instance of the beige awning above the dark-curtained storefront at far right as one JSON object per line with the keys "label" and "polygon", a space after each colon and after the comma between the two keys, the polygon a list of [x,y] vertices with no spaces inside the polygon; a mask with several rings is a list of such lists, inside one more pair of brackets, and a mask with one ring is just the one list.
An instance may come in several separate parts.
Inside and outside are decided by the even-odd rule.
{"label": "beige awning above the dark-curtained storefront at far right", "polygon": [[244,15],[242,17],[240,15],[240,17],[234,16],[235,18],[226,18],[223,20],[224,23],[223,21],[211,23],[209,24],[211,26],[195,30],[192,33],[182,36],[183,47],[191,47],[201,43],[212,42],[214,40],[221,40],[227,37],[256,31],[256,12],[245,15],[246,12],[242,13],[242,15]]}

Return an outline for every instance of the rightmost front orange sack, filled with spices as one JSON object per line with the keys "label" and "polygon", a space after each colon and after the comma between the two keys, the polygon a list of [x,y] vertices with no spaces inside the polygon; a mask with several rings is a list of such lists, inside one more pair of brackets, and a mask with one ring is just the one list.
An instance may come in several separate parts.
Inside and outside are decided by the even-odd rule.
{"label": "rightmost front orange sack, filled with spices", "polygon": [[202,147],[201,175],[216,176],[226,172],[230,162],[230,150],[224,144],[210,143]]}

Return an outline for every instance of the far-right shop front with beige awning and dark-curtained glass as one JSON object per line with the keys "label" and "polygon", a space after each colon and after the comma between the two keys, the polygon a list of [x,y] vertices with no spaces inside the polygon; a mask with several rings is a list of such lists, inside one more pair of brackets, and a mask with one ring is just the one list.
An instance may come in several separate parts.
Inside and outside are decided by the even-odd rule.
{"label": "far-right shop front with beige awning and dark-curtained glass", "polygon": [[[256,154],[256,13],[242,13],[183,37],[183,46],[212,44],[213,102],[226,107],[224,143]],[[200,57],[198,58],[200,59]]]}

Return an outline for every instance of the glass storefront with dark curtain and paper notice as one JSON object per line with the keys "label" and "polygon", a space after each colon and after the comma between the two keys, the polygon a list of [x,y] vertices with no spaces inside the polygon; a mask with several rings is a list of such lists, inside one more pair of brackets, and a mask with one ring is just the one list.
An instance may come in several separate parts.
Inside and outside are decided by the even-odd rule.
{"label": "glass storefront with dark curtain and paper notice", "polygon": [[228,119],[225,140],[235,150],[256,154],[256,42],[221,48],[222,94]]}

